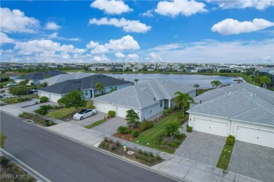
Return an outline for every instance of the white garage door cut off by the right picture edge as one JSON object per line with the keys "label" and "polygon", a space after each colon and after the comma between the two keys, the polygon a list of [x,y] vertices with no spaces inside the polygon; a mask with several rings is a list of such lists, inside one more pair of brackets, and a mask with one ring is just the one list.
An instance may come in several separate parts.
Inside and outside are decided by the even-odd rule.
{"label": "white garage door cut off by the right picture edge", "polygon": [[237,126],[236,139],[251,144],[274,148],[274,132]]}

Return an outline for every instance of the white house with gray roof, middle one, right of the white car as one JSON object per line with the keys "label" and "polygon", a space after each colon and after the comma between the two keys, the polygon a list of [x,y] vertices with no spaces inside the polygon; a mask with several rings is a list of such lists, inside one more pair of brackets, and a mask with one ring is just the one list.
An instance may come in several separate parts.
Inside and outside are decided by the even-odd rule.
{"label": "white house with gray roof, middle one, right of the white car", "polygon": [[173,107],[176,91],[189,93],[191,97],[196,95],[194,87],[157,78],[96,97],[93,105],[97,111],[115,111],[116,116],[122,118],[125,118],[126,111],[133,109],[143,121]]}

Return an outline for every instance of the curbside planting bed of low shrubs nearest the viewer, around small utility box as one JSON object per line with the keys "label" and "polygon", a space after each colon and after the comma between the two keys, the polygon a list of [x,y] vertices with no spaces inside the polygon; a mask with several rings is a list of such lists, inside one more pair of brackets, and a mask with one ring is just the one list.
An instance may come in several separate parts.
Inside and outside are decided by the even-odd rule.
{"label": "curbside planting bed of low shrubs nearest the viewer, around small utility box", "polygon": [[[111,139],[107,139],[107,137],[105,137],[98,147],[123,156],[124,158],[140,162],[143,165],[153,166],[164,161],[159,155],[155,156],[152,153],[142,150],[135,151],[131,148],[126,148],[126,151],[124,151],[124,146],[122,146],[119,141],[112,141]],[[133,153],[129,154],[129,151]]]}

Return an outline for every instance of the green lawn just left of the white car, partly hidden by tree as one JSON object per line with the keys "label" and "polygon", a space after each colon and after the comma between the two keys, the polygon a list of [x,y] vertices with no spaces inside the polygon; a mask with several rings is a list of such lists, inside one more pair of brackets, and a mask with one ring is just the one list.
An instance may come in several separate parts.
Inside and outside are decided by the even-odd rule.
{"label": "green lawn just left of the white car, partly hidden by tree", "polygon": [[[91,106],[92,106],[92,101],[86,102],[86,108],[90,108]],[[56,110],[50,111],[48,112],[46,116],[61,120],[67,116],[72,115],[73,113],[75,113],[75,109],[74,107],[71,107],[71,108],[63,108],[63,109],[56,109]]]}

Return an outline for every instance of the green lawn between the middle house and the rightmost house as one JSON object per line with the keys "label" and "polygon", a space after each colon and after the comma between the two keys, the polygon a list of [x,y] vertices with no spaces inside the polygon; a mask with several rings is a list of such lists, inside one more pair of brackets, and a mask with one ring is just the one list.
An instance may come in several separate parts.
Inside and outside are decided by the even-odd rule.
{"label": "green lawn between the middle house and the rightmost house", "polygon": [[[138,138],[134,139],[133,142],[136,144],[140,144],[142,146],[148,146],[150,148],[155,148],[159,151],[167,152],[167,153],[174,153],[174,151],[167,150],[165,148],[160,148],[158,146],[155,146],[157,137],[159,134],[164,133],[164,125],[167,123],[173,123],[174,121],[180,120],[182,117],[182,111],[178,113],[172,113],[170,116],[167,116],[163,120],[161,120],[159,123],[154,125],[149,130],[146,130],[145,132],[142,132]],[[137,142],[139,141],[139,142]]]}

